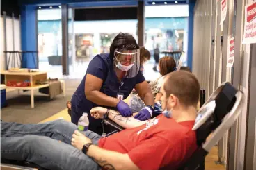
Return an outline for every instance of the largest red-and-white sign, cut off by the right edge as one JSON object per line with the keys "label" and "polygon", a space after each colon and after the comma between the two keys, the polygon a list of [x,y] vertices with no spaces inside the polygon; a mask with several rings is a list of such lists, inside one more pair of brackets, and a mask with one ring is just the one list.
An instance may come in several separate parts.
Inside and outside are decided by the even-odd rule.
{"label": "largest red-and-white sign, cut off by the right edge", "polygon": [[253,44],[256,43],[256,2],[248,4],[245,12],[243,44]]}

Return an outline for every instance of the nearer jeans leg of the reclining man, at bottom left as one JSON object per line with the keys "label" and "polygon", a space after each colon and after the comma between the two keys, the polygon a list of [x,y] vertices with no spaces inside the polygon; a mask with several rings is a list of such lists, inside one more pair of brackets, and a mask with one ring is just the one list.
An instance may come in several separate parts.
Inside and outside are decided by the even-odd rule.
{"label": "nearer jeans leg of the reclining man, at bottom left", "polygon": [[77,148],[37,135],[1,137],[1,158],[33,162],[45,169],[100,169],[96,162]]}

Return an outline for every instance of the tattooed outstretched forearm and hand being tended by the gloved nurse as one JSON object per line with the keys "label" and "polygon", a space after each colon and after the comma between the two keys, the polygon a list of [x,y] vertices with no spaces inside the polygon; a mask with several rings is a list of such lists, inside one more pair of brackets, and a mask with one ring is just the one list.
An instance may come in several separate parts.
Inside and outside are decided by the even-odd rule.
{"label": "tattooed outstretched forearm and hand being tended by the gloved nurse", "polygon": [[[96,107],[90,110],[90,114],[95,117],[95,119],[102,119],[106,112],[107,109],[102,107]],[[123,128],[134,128],[141,126],[146,122],[134,119],[134,117],[122,117],[122,115],[120,115],[120,113],[115,110],[109,110],[109,119],[114,121],[119,126],[122,126]]]}

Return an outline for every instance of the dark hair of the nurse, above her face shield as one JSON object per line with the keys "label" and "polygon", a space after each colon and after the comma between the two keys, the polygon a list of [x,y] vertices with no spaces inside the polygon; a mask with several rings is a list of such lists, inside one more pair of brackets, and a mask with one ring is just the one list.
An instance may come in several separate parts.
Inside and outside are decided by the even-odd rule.
{"label": "dark hair of the nurse, above her face shield", "polygon": [[109,56],[113,59],[115,49],[139,49],[139,46],[132,35],[129,33],[119,33],[115,36],[110,48]]}

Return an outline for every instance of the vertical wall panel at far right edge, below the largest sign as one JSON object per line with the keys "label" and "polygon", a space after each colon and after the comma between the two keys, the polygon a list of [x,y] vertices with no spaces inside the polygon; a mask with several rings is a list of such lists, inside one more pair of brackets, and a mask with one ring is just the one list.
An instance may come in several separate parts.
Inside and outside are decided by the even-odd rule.
{"label": "vertical wall panel at far right edge, below the largest sign", "polygon": [[[256,44],[250,44],[250,66],[248,83],[248,112],[246,126],[246,153],[244,169],[255,170],[253,163],[256,160]],[[256,162],[255,162],[256,163]]]}

